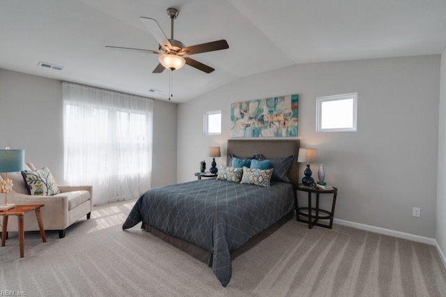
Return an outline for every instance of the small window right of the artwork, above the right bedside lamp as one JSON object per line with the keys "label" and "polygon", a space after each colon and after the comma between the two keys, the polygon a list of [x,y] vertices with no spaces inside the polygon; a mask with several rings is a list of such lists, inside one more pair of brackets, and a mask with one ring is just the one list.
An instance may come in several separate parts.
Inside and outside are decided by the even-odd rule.
{"label": "small window right of the artwork, above the right bedside lamp", "polygon": [[356,131],[357,93],[316,98],[316,132]]}

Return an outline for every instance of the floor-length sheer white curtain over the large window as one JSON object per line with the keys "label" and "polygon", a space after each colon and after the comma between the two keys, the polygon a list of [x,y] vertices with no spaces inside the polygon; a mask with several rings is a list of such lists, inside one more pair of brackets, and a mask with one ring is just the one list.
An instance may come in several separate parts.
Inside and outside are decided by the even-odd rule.
{"label": "floor-length sheer white curtain over the large window", "polygon": [[153,100],[63,82],[65,181],[93,185],[93,203],[151,188]]}

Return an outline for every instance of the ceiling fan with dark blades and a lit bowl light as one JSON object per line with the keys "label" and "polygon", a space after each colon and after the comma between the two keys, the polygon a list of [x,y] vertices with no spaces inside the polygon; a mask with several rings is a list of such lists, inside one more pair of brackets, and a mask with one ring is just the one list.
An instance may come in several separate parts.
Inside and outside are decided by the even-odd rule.
{"label": "ceiling fan with dark blades and a lit bowl light", "polygon": [[170,70],[178,70],[185,64],[197,68],[205,73],[211,73],[215,69],[200,63],[197,60],[191,59],[190,55],[200,54],[203,52],[213,52],[216,50],[226,50],[229,48],[226,40],[217,40],[210,43],[202,43],[201,45],[192,45],[190,47],[185,47],[185,45],[179,40],[174,39],[174,20],[178,17],[178,10],[175,8],[167,8],[167,15],[171,20],[171,38],[168,39],[164,31],[162,31],[160,24],[156,20],[150,17],[140,17],[141,22],[146,25],[148,31],[150,31],[159,43],[158,50],[143,50],[136,49],[132,47],[114,47],[106,45],[106,47],[123,49],[123,50],[136,50],[142,52],[150,52],[153,54],[158,54],[158,60],[160,63],[155,67],[153,73],[162,73],[164,68]]}

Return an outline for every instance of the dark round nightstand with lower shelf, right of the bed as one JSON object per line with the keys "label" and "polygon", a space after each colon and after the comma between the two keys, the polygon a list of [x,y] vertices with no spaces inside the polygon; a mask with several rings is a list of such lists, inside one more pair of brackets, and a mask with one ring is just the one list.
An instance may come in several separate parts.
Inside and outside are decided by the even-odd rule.
{"label": "dark round nightstand with lower shelf, right of the bed", "polygon": [[[319,227],[332,229],[333,217],[334,217],[334,206],[336,205],[337,188],[333,187],[332,190],[321,190],[318,188],[311,188],[308,185],[302,185],[302,183],[300,183],[297,186],[296,190],[308,193],[308,207],[299,207],[298,206],[298,199],[297,199],[297,193],[296,193],[296,199],[295,199],[296,220],[298,220],[298,222],[307,222],[308,229],[312,229],[313,226],[319,226]],[[312,207],[312,194],[313,193],[316,194],[316,208]],[[333,195],[331,211],[325,211],[324,209],[319,209],[319,194],[332,194]],[[314,214],[313,214],[313,212],[314,212]],[[321,213],[323,213],[323,215],[321,215]],[[300,215],[307,217],[308,220],[302,220],[300,218]],[[330,224],[328,224],[328,225],[321,224],[318,222],[318,220],[330,220]]]}

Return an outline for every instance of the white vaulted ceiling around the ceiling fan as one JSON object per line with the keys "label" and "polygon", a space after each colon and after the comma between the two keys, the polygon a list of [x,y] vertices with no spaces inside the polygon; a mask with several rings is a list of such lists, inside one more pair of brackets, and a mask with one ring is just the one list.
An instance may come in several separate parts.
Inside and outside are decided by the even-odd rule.
{"label": "white vaulted ceiling around the ceiling fan", "polygon": [[172,102],[297,63],[441,54],[446,47],[445,0],[0,0],[0,68],[168,100],[169,71],[152,73],[155,54],[105,45],[157,50],[139,17],[157,20],[170,38],[169,7],[180,12],[176,40],[229,43],[192,56],[213,73],[174,71]]}

